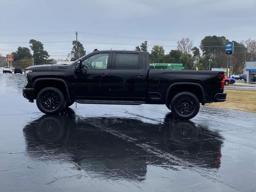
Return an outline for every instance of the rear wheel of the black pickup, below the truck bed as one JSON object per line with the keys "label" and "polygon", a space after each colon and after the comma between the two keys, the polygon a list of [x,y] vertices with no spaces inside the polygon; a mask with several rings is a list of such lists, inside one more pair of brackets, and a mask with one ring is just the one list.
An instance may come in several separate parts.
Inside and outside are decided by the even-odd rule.
{"label": "rear wheel of the black pickup, below the truck bed", "polygon": [[200,102],[191,92],[180,92],[171,101],[170,109],[173,116],[179,119],[192,119],[200,109]]}

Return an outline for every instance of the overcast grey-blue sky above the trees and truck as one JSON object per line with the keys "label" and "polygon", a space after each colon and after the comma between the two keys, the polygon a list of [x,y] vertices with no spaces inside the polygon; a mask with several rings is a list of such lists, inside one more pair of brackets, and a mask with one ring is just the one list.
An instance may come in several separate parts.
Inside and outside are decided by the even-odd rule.
{"label": "overcast grey-blue sky above the trees and truck", "polygon": [[256,0],[0,0],[0,53],[39,40],[51,58],[66,58],[72,40],[87,53],[134,50],[148,40],[148,51],[167,52],[188,37],[194,46],[205,36],[256,39]]}

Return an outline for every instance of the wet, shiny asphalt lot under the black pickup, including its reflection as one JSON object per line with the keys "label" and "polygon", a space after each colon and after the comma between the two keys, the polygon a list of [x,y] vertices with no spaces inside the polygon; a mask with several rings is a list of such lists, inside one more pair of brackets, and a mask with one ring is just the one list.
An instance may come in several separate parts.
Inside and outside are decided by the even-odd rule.
{"label": "wet, shiny asphalt lot under the black pickup, including its reflection", "polygon": [[256,190],[256,115],[201,106],[73,104],[44,115],[0,74],[0,191]]}

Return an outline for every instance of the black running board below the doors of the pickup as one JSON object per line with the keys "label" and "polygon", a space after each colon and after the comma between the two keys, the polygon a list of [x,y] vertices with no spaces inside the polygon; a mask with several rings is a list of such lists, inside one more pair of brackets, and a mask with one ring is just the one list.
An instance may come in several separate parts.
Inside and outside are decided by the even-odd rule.
{"label": "black running board below the doors of the pickup", "polygon": [[74,100],[82,104],[113,104],[113,105],[141,105],[145,101],[114,101],[114,100]]}

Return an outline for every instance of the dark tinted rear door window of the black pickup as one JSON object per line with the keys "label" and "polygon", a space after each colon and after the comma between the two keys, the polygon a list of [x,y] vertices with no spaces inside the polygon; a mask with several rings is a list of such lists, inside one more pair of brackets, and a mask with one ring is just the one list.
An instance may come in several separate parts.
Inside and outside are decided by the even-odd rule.
{"label": "dark tinted rear door window of the black pickup", "polygon": [[117,53],[116,69],[140,69],[139,54]]}

